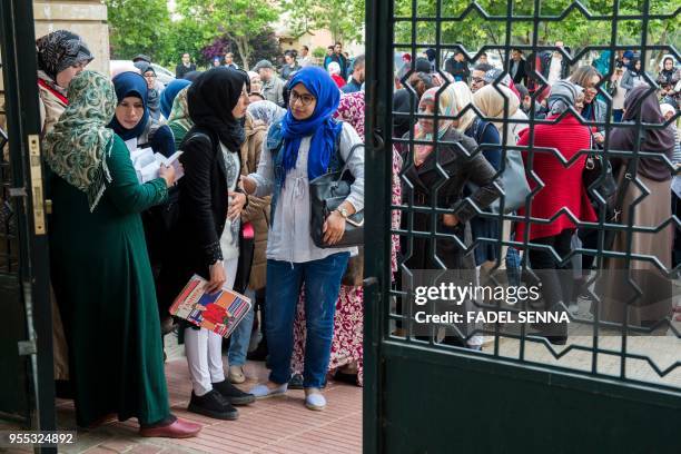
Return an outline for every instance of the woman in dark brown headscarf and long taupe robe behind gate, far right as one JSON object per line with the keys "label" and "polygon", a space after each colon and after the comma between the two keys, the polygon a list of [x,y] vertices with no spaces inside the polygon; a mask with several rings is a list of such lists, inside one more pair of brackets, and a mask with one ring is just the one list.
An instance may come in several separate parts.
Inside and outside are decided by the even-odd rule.
{"label": "woman in dark brown headscarf and long taupe robe behind gate, far right", "polygon": [[[664,118],[654,90],[639,86],[626,93],[623,121],[645,125],[662,125]],[[639,145],[640,144],[640,145]],[[671,161],[675,144],[671,127],[653,129],[630,125],[629,128],[615,128],[610,136],[612,150],[640,151],[654,154],[649,157],[623,159],[618,172],[619,190],[623,191],[622,203],[615,206],[620,213],[616,221],[623,226],[630,224],[636,228],[655,228],[671,217],[670,179]],[[642,190],[639,188],[645,188]],[[650,193],[644,195],[644,193]],[[620,196],[621,197],[621,196]],[[618,201],[620,199],[618,197]],[[639,200],[640,199],[640,200]],[[629,312],[630,325],[652,324],[671,314],[671,283],[664,272],[671,268],[671,245],[673,225],[659,231],[619,231],[615,235],[613,250],[631,251],[634,256],[654,257],[662,269],[654,263],[632,258],[631,261],[611,258],[606,261],[606,279],[601,303],[601,319],[621,323]],[[629,240],[631,236],[631,247]],[[636,296],[631,279],[643,290]],[[628,308],[626,308],[628,306]]]}

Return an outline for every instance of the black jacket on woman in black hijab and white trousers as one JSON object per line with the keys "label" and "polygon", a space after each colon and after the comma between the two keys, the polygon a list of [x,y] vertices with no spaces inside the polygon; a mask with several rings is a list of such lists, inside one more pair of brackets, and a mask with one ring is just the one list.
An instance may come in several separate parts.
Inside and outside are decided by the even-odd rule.
{"label": "black jacket on woman in black hijab and white trousers", "polygon": [[[174,299],[194,274],[209,278],[209,267],[223,259],[220,237],[227,223],[227,171],[217,134],[194,127],[182,140],[178,182],[178,219],[171,231],[174,249],[161,270],[162,298]],[[237,154],[238,156],[238,154]]]}

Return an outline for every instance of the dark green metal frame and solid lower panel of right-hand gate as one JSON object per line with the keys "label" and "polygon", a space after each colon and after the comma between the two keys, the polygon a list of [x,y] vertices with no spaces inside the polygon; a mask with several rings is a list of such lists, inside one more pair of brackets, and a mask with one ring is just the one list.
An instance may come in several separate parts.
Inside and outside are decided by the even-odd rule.
{"label": "dark green metal frame and solid lower panel of right-hand gate", "polygon": [[[534,16],[515,14],[514,2],[507,0],[500,2],[507,4],[505,16],[488,14],[477,2],[470,2],[457,18],[441,16],[443,0],[435,1],[434,16],[416,18],[417,0],[411,0],[412,17],[398,18],[394,13],[395,1],[366,3],[366,127],[371,131],[371,135],[367,134],[366,180],[372,184],[366,185],[365,193],[365,235],[372,238],[373,246],[365,248],[364,452],[678,451],[681,421],[679,388],[636,382],[624,376],[624,371],[619,377],[598,375],[595,363],[592,373],[584,373],[526,363],[522,361],[524,358],[503,358],[499,356],[497,347],[494,355],[481,355],[465,349],[436,349],[432,342],[430,345],[417,344],[389,335],[389,322],[394,319],[389,310],[391,296],[394,295],[389,270],[391,234],[413,234],[411,230],[391,230],[391,210],[386,209],[392,207],[405,213],[413,208],[406,201],[402,207],[394,207],[391,203],[394,50],[408,47],[413,56],[426,47],[436,48],[438,56],[443,49],[465,50],[462,45],[416,42],[416,22],[436,22],[436,36],[440,37],[441,22],[461,21],[470,13],[506,24],[531,20],[535,30],[540,21],[557,21],[573,10],[580,11],[589,20],[612,19],[591,14],[579,1],[574,1],[562,14],[541,16],[541,0],[533,0]],[[679,8],[670,14],[651,14],[650,0],[642,3],[641,14],[626,18],[615,14],[613,40],[619,20],[638,20],[647,29],[651,19],[673,20],[681,12]],[[619,4],[620,0],[614,0],[615,11]],[[394,42],[395,23],[399,21],[412,23],[412,42]],[[510,43],[511,28],[507,27],[507,30],[504,45],[483,47],[480,51],[485,48],[502,49],[507,59],[512,47],[523,48]],[[649,45],[648,33],[642,34],[642,49],[669,49],[667,46]],[[576,61],[590,49],[622,48],[624,46],[611,42],[605,47],[586,48],[573,57],[564,56]],[[534,41],[524,49],[537,51],[551,47],[539,46],[534,33]],[[679,58],[673,48],[671,51]],[[438,68],[442,67],[440,57],[436,63]],[[645,69],[645,62],[642,69]],[[599,91],[603,92],[600,86]],[[608,112],[611,112],[610,103]],[[411,119],[414,119],[413,111]],[[531,128],[540,122],[534,118],[529,121]],[[605,128],[610,128],[610,120]],[[603,228],[603,224],[599,227]],[[499,243],[509,245],[509,241]],[[522,245],[526,247],[527,243]],[[603,251],[602,244],[595,253],[598,257],[616,255]],[[593,352],[594,355],[599,353]],[[624,352],[621,357],[624,361],[635,355]],[[663,376],[677,367],[681,367],[679,362],[664,371],[655,368],[655,372]]]}

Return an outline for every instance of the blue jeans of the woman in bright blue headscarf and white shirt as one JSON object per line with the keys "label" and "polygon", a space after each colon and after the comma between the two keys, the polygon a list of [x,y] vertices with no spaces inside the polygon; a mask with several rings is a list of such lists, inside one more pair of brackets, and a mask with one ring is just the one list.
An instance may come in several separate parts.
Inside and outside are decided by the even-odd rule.
{"label": "blue jeans of the woman in bright blue headscarf and white shirt", "polygon": [[266,329],[269,348],[269,379],[277,384],[290,378],[293,324],[300,288],[305,284],[305,371],[303,386],[320,388],[330,356],[334,314],[348,253],[320,260],[292,264],[267,260]]}

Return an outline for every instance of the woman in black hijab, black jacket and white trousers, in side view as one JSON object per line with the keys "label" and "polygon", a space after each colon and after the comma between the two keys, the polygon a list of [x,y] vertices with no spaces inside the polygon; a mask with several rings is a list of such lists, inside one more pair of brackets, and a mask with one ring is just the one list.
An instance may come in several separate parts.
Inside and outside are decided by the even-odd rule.
{"label": "woman in black hijab, black jacket and white trousers, in side view", "polygon": [[[213,293],[231,288],[239,257],[239,217],[247,199],[238,188],[240,147],[246,140],[248,76],[228,68],[201,73],[187,92],[194,127],[180,145],[185,177],[179,181],[179,219],[172,261],[164,266],[165,295],[177,296],[197,274]],[[225,379],[223,338],[206,328],[184,329],[193,392],[189,411],[236,420],[231,405],[254,402]]]}

